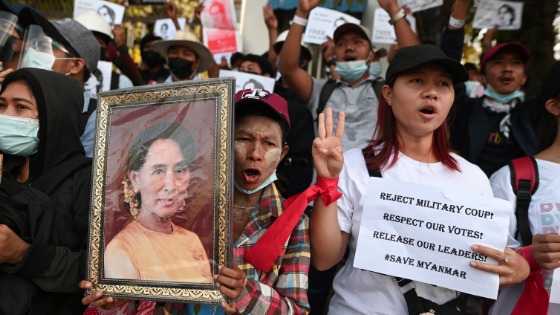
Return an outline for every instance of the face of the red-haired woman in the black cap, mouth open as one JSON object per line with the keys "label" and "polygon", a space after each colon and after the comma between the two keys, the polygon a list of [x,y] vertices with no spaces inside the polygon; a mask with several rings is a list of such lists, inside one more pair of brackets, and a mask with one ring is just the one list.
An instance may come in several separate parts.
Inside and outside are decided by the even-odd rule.
{"label": "face of the red-haired woman in the black cap, mouth open", "polygon": [[403,137],[430,136],[445,121],[453,99],[453,79],[445,68],[425,65],[399,75],[385,99]]}

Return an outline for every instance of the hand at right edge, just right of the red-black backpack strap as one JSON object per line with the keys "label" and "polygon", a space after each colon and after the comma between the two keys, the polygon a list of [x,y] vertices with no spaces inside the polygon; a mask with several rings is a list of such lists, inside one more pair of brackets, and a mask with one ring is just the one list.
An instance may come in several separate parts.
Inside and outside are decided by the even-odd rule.
{"label": "hand at right edge, just right of the red-black backpack strap", "polygon": [[560,235],[535,234],[531,254],[543,269],[552,270],[560,267]]}

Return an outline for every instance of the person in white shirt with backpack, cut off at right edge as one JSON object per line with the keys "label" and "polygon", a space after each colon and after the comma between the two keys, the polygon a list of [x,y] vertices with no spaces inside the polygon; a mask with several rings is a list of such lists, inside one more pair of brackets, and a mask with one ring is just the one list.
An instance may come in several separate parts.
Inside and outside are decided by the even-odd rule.
{"label": "person in white shirt with backpack, cut off at right edge", "polygon": [[[560,267],[560,62],[556,62],[544,81],[541,97],[545,100],[544,107],[547,114],[543,115],[539,131],[539,153],[535,155],[539,174],[539,186],[531,198],[529,205],[529,226],[533,234],[532,244],[521,244],[520,252],[531,263],[531,276],[541,276],[544,280],[544,288],[550,291],[552,284],[552,273]],[[511,174],[508,166],[505,166],[490,178],[494,195],[511,203],[511,209],[515,212],[516,196],[511,186]],[[517,218],[512,216],[510,223],[510,237],[515,238],[517,232]],[[521,243],[521,241],[519,242]],[[520,246],[515,241],[512,247]],[[528,246],[527,246],[528,245]],[[530,281],[528,279],[527,281]],[[524,290],[524,284],[511,286],[500,292],[498,300],[491,309],[490,314],[512,314],[514,307],[517,310],[529,305],[532,306],[531,314],[547,314],[548,294],[542,293],[540,306],[543,309],[535,309],[534,300],[520,300]],[[534,288],[534,287],[532,287]],[[534,293],[534,292],[533,292]],[[539,296],[538,293],[533,296]],[[518,303],[519,301],[519,303]],[[544,301],[544,303],[542,303]],[[519,304],[519,305],[518,305]],[[560,314],[559,304],[549,304],[548,314]]]}

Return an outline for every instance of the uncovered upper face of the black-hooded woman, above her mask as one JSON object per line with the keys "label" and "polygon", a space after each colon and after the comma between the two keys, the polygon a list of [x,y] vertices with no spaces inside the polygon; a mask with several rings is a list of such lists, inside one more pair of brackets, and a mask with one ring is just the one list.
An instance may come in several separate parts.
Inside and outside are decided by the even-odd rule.
{"label": "uncovered upper face of the black-hooded woman, above her mask", "polygon": [[21,118],[39,118],[37,102],[29,87],[22,82],[12,82],[0,95],[0,114]]}

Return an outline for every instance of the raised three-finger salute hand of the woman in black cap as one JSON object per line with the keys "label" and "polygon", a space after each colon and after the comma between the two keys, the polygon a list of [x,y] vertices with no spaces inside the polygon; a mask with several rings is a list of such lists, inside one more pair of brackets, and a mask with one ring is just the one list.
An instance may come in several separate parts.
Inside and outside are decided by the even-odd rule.
{"label": "raised three-finger salute hand of the woman in black cap", "polygon": [[[342,155],[342,135],[344,135],[344,112],[338,113],[336,132],[333,130],[332,109],[327,108],[319,115],[317,127],[319,137],[313,140],[313,163],[317,176],[322,178],[338,178],[344,157]],[[334,132],[334,135],[333,135]]]}

